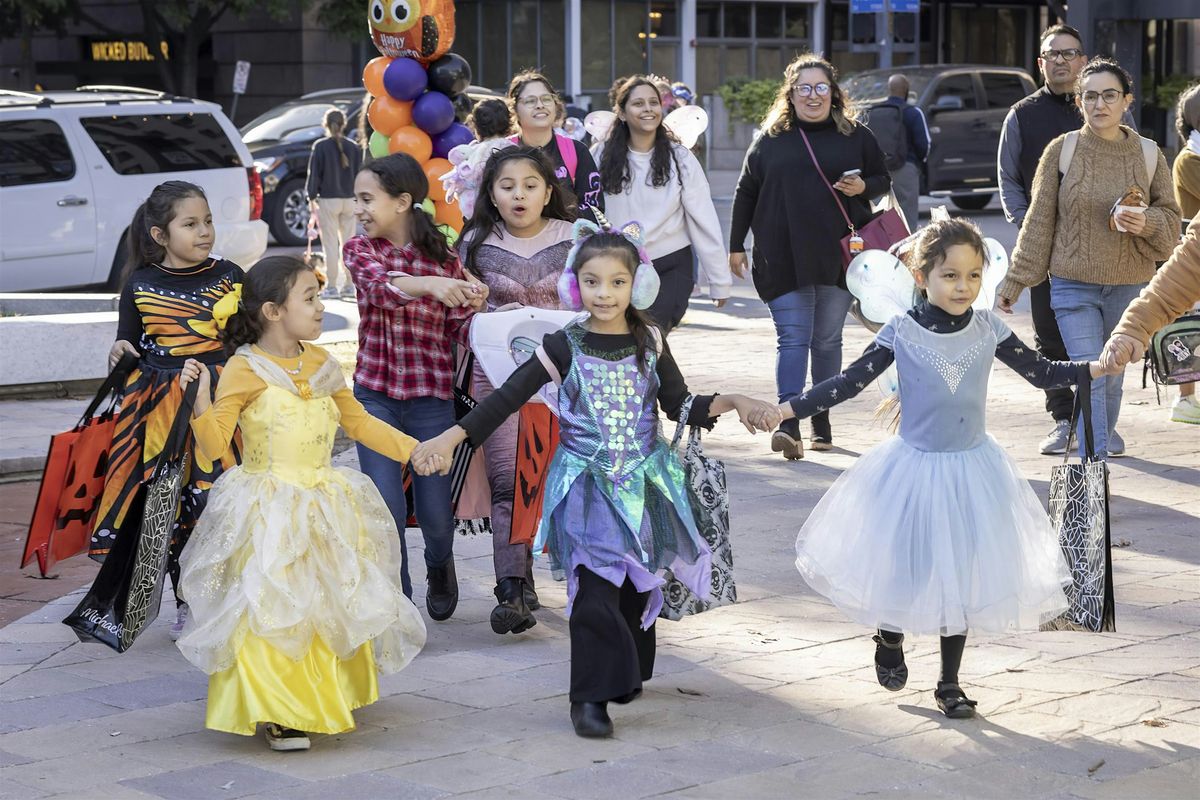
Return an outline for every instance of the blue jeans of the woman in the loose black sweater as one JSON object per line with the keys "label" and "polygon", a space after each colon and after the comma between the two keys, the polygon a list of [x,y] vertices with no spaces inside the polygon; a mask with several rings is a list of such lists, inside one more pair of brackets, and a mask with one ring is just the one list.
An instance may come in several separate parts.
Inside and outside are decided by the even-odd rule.
{"label": "blue jeans of the woman in the loose black sweater", "polygon": [[852,301],[838,287],[803,287],[767,303],[775,321],[780,403],[804,393],[810,353],[814,385],[841,372],[841,329]]}

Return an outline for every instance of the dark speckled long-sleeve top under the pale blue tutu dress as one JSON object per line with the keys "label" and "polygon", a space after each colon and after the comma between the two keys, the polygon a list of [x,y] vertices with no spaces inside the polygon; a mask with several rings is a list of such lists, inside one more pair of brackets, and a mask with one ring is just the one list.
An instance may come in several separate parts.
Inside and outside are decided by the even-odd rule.
{"label": "dark speckled long-sleeve top under the pale blue tutu dress", "polygon": [[[948,314],[937,306],[922,302],[908,312],[918,325],[935,333],[953,333],[960,331],[971,321],[973,311],[964,314]],[[1022,342],[1016,333],[1009,333],[996,344],[996,357],[1008,365],[1014,372],[1038,389],[1057,389],[1074,386],[1082,380],[1091,380],[1086,361],[1050,361],[1034,348]],[[809,391],[791,401],[792,413],[797,419],[820,414],[838,403],[854,397],[883,374],[892,366],[895,354],[892,348],[875,341],[853,363],[840,374],[823,380]]]}

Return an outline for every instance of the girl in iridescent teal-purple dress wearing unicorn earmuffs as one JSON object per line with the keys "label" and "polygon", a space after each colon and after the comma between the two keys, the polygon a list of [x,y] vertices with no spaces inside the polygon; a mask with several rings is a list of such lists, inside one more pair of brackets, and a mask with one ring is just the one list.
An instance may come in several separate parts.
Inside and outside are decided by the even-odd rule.
{"label": "girl in iridescent teal-purple dress wearing unicorn earmuffs", "polygon": [[[696,529],[683,467],[661,435],[658,407],[674,420],[689,392],[661,333],[641,313],[659,289],[641,225],[617,231],[576,222],[558,287],[565,307],[588,313],[547,335],[536,357],[457,426],[422,443],[413,463],[445,468],[463,439],[482,444],[541,386],[560,385],[559,444],[533,549],[547,546],[568,571],[575,732],[607,736],[608,702],[636,698],[654,669],[661,571],[707,597],[712,552]],[[778,417],[772,403],[719,395],[695,397],[688,422],[712,427],[712,417],[730,410],[744,422],[750,414]]]}

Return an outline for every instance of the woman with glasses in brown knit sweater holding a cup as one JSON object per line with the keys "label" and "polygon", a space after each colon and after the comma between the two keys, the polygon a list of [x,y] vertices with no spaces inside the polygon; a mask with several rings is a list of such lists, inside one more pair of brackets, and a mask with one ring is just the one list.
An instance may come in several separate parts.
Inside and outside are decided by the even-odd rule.
{"label": "woman with glasses in brown knit sweater holding a cup", "polygon": [[[1049,277],[1067,355],[1091,361],[1153,277],[1154,261],[1171,254],[1180,206],[1163,154],[1121,124],[1133,103],[1129,73],[1116,61],[1092,59],[1079,73],[1075,102],[1084,127],[1058,137],[1042,155],[1013,263],[996,294],[1001,311],[1012,313],[1021,291]],[[1102,457],[1124,455],[1124,443],[1112,439],[1122,380],[1092,381]]]}

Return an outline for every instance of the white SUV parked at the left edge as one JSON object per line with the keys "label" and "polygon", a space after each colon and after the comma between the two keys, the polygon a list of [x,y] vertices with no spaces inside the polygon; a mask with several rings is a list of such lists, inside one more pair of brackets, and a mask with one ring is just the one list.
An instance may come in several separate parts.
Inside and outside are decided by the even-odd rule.
{"label": "white SUV parked at the left edge", "polygon": [[155,186],[204,188],[215,252],[266,251],[263,190],[215,103],[128,86],[0,90],[0,291],[118,289],[125,233]]}

